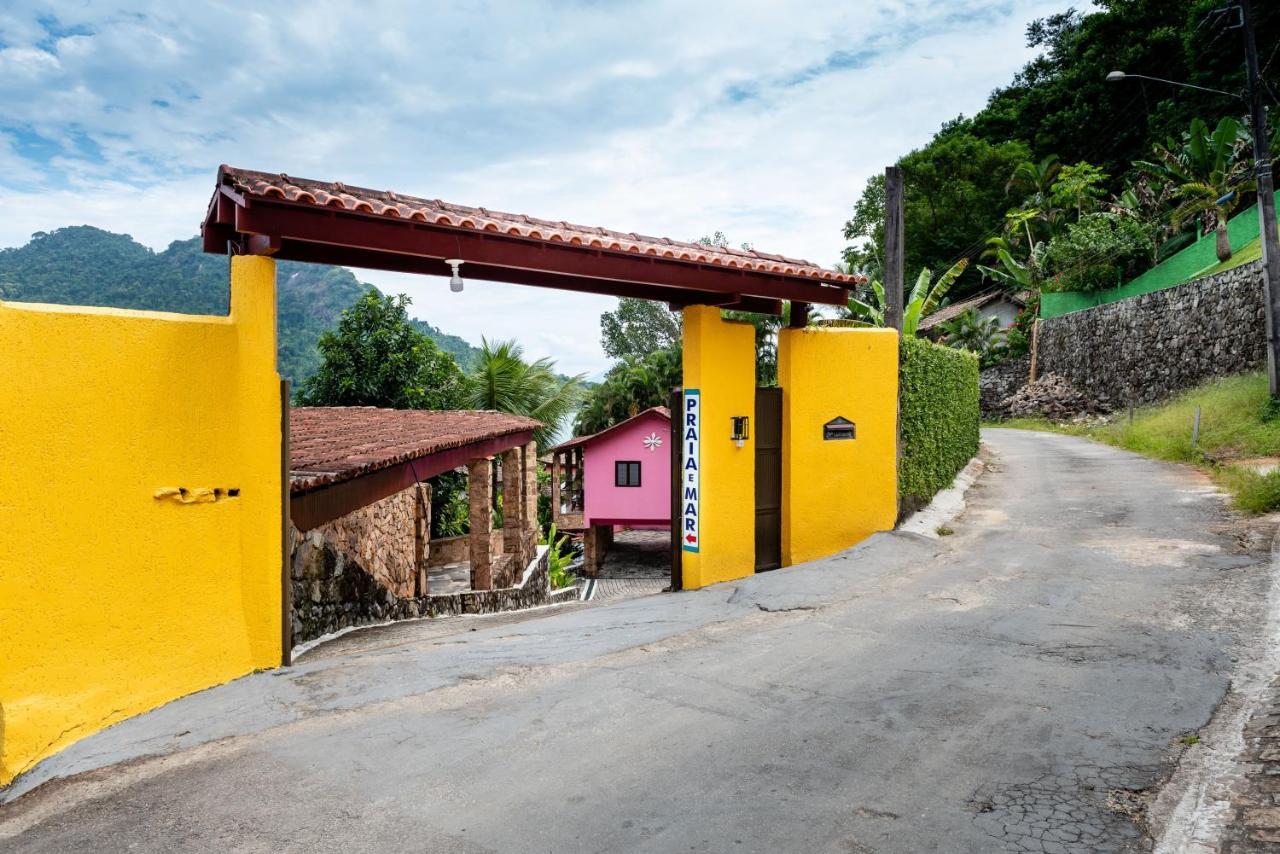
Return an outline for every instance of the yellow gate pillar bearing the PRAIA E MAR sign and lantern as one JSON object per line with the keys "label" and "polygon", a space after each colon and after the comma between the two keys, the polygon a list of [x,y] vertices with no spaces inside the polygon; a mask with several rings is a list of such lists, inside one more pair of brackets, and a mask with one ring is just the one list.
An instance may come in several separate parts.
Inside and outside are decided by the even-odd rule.
{"label": "yellow gate pillar bearing the PRAIA E MAR sign and lantern", "polygon": [[730,438],[735,415],[755,416],[755,329],[719,309],[684,311],[685,388],[701,393],[701,502],[698,553],[684,552],[684,586],[755,572],[755,444]]}

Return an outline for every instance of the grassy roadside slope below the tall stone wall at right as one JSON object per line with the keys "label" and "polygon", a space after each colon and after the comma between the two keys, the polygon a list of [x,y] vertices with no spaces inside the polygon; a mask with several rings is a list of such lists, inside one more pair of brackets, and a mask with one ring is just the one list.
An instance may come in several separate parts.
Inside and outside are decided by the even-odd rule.
{"label": "grassy roadside slope below the tall stone wall at right", "polygon": [[[1083,435],[1143,456],[1201,466],[1226,489],[1238,510],[1280,510],[1280,470],[1260,474],[1238,465],[1254,457],[1280,457],[1280,417],[1270,405],[1266,374],[1257,371],[1211,380],[1153,406],[1115,412],[1101,423],[1055,424],[1011,419],[992,426]],[[1196,407],[1199,442],[1192,444]]]}

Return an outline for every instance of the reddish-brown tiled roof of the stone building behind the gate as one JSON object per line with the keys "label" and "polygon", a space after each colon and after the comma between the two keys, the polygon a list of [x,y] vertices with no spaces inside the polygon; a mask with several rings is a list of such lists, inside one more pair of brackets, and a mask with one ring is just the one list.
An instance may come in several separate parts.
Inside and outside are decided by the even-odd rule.
{"label": "reddish-brown tiled roof of the stone building behind the gate", "polygon": [[291,492],[301,493],[541,424],[485,410],[298,406],[289,412]]}

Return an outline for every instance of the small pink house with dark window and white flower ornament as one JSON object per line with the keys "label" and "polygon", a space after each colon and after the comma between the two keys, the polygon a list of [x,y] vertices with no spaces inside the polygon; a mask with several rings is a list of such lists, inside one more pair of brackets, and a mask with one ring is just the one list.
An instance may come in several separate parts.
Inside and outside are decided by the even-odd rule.
{"label": "small pink house with dark window and white flower ornament", "polygon": [[556,526],[585,533],[594,574],[614,526],[671,525],[671,414],[655,406],[552,448]]}

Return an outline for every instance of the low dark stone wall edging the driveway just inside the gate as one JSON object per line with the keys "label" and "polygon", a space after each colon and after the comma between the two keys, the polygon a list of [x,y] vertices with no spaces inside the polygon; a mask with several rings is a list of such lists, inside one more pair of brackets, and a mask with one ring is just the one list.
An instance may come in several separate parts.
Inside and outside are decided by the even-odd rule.
{"label": "low dark stone wall edging the driveway just inside the gate", "polygon": [[291,530],[293,554],[293,645],[321,635],[388,620],[460,613],[495,613],[547,604],[550,598],[547,548],[513,586],[448,595],[397,597],[378,584],[357,558],[334,547],[319,529]]}

